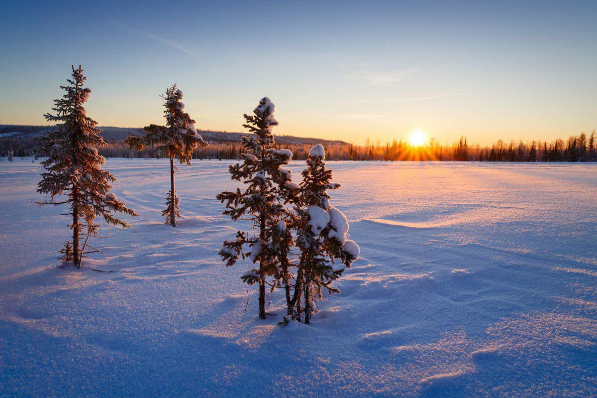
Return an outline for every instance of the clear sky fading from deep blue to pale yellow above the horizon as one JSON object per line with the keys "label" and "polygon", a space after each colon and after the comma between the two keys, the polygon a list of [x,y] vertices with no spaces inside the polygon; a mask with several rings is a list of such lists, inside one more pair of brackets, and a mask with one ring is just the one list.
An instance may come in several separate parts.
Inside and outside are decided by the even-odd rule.
{"label": "clear sky fading from deep blue to pale yellow above the horizon", "polygon": [[[124,4],[126,3],[126,4]],[[163,124],[177,83],[199,128],[362,144],[552,140],[597,128],[597,1],[2,1],[0,124],[43,115],[81,64],[100,125]]]}

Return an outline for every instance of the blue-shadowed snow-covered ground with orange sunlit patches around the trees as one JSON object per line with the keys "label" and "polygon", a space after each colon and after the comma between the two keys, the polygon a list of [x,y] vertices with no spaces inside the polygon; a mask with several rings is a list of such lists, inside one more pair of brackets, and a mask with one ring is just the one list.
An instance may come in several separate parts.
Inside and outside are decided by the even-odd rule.
{"label": "blue-shadowed snow-covered ground with orange sunlit patches around the trees", "polygon": [[141,216],[85,265],[117,273],[54,268],[64,209],[0,163],[1,396],[597,396],[597,165],[328,163],[361,259],[279,327],[217,256],[228,163],[180,166],[171,228],[167,161],[110,159]]}

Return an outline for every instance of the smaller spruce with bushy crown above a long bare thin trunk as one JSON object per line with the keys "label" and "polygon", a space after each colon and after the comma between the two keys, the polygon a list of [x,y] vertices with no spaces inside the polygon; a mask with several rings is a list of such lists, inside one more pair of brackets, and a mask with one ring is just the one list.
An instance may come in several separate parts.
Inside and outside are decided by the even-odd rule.
{"label": "smaller spruce with bushy crown above a long bare thin trunk", "polygon": [[143,151],[148,146],[156,146],[156,155],[170,159],[170,191],[166,197],[166,209],[162,216],[166,217],[166,224],[176,226],[176,219],[180,217],[180,197],[176,194],[174,186],[174,158],[180,164],[190,164],[193,157],[193,150],[198,146],[205,148],[207,142],[195,128],[195,121],[184,112],[184,103],[181,102],[183,92],[176,84],[166,90],[162,95],[164,99],[164,115],[166,125],[150,124],[144,128],[145,135],[135,137],[130,135],[125,140],[131,148]]}

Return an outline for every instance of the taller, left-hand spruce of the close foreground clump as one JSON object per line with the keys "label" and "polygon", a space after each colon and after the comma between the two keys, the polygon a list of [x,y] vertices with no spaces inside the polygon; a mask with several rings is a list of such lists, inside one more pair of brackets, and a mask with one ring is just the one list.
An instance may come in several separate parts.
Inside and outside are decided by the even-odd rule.
{"label": "taller, left-hand spruce of the close foreground clump", "polygon": [[[272,148],[272,128],[278,125],[273,117],[275,106],[269,98],[260,100],[252,115],[244,115],[243,127],[255,134],[242,137],[247,153],[242,154],[242,163],[230,165],[231,178],[245,184],[244,191],[224,191],[217,195],[226,203],[223,214],[233,220],[247,219],[253,222],[253,235],[238,231],[236,240],[224,241],[220,255],[226,264],[232,266],[239,258],[249,258],[252,264],[242,280],[253,285],[259,283],[259,317],[265,319],[266,277],[285,280],[288,295],[288,261],[291,235],[285,228],[288,210],[285,203],[296,195],[298,186],[292,182],[292,173],[283,166],[292,158],[288,149]],[[272,284],[272,287],[275,284]],[[288,296],[287,295],[287,296]]]}

